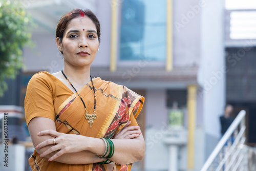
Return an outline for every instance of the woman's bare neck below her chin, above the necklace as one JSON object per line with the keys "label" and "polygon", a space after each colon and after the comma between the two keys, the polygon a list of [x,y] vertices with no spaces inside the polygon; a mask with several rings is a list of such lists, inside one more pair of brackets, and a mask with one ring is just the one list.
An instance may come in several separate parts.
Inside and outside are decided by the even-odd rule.
{"label": "woman's bare neck below her chin, above the necklace", "polygon": [[83,68],[79,68],[79,67],[71,68],[65,65],[63,68],[63,72],[72,82],[76,82],[76,84],[84,85],[91,80],[90,68],[91,66],[87,66]]}

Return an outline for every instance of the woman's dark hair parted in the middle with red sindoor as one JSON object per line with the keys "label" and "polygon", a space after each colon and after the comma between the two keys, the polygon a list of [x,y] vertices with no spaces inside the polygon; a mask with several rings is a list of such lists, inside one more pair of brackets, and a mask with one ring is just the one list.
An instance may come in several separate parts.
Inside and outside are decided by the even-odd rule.
{"label": "woman's dark hair parted in the middle with red sindoor", "polygon": [[79,8],[69,11],[59,19],[59,23],[56,28],[56,38],[59,37],[59,40],[62,41],[63,34],[68,24],[71,22],[72,19],[79,16],[88,16],[93,21],[97,29],[98,40],[100,42],[100,24],[99,24],[98,18],[91,10],[89,9],[82,10]]}

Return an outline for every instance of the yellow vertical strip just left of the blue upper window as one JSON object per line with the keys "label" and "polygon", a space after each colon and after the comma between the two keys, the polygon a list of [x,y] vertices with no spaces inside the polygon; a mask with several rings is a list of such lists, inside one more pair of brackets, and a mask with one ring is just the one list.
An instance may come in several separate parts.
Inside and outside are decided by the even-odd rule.
{"label": "yellow vertical strip just left of the blue upper window", "polygon": [[112,22],[111,22],[111,52],[110,52],[110,71],[116,71],[117,60],[117,22],[118,22],[118,0],[112,0]]}

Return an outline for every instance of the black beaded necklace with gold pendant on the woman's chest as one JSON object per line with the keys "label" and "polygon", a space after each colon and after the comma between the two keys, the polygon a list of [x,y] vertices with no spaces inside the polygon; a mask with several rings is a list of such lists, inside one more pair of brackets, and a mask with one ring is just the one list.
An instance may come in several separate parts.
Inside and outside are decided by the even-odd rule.
{"label": "black beaded necklace with gold pendant on the woman's chest", "polygon": [[[70,85],[73,87],[73,89],[76,91],[75,87],[72,85],[71,81],[69,80],[69,78],[67,78],[67,76],[64,74],[63,70],[61,70],[63,76],[69,81]],[[84,117],[86,117],[86,119],[88,120],[88,123],[90,124],[90,128],[92,128],[92,124],[94,123],[93,120],[96,119],[96,114],[95,114],[95,109],[96,109],[96,95],[95,95],[95,87],[94,87],[94,84],[93,84],[93,79],[90,75],[90,78],[91,78],[91,82],[92,82],[92,85],[93,85],[93,93],[94,93],[94,110],[93,110],[93,114],[88,114],[87,112],[87,109],[86,109],[86,104],[84,104],[84,101],[82,100],[81,96],[79,93],[77,93],[76,91],[76,94],[80,97],[82,103],[83,103],[83,106],[84,106],[84,109],[86,110],[86,115],[84,115]]]}

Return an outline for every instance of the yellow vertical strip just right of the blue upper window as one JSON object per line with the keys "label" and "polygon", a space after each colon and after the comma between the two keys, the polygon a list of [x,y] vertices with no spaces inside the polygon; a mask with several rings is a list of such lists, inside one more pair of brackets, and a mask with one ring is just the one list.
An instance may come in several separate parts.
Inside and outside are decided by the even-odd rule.
{"label": "yellow vertical strip just right of the blue upper window", "polygon": [[173,69],[173,0],[166,0],[166,71]]}

